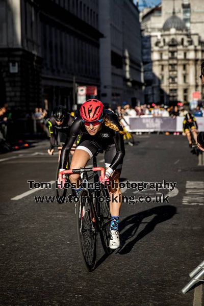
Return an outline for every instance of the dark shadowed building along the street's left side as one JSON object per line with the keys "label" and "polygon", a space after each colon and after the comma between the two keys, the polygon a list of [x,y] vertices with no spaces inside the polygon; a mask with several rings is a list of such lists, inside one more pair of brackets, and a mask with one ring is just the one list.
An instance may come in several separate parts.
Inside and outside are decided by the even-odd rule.
{"label": "dark shadowed building along the street's left side", "polygon": [[73,87],[99,87],[98,0],[0,2],[0,103],[68,105]]}

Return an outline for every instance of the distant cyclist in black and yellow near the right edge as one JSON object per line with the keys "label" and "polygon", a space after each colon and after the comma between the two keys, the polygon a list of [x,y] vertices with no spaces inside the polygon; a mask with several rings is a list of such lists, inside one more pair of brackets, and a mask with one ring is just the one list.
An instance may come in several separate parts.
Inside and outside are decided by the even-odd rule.
{"label": "distant cyclist in black and yellow near the right edge", "polygon": [[197,128],[198,126],[195,117],[191,113],[187,113],[183,121],[183,132],[187,136],[190,147],[192,146],[190,130],[192,131],[195,142],[197,142]]}

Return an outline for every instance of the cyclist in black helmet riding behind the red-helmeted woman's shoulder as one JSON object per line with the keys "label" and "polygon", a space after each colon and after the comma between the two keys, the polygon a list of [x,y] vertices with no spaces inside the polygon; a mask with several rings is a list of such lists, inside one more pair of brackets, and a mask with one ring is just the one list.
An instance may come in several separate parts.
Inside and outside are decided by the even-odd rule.
{"label": "cyclist in black helmet riding behind the red-helmeted woman's shoulder", "polygon": [[[49,140],[50,140],[50,148],[47,150],[49,155],[53,155],[54,153],[54,145],[55,143],[59,144],[59,159],[60,152],[62,149],[62,143],[65,143],[66,137],[68,135],[71,124],[73,123],[75,117],[71,116],[66,108],[62,105],[57,106],[53,112],[52,117],[47,120],[47,127],[49,131]],[[73,150],[70,150],[70,153],[73,155]]]}

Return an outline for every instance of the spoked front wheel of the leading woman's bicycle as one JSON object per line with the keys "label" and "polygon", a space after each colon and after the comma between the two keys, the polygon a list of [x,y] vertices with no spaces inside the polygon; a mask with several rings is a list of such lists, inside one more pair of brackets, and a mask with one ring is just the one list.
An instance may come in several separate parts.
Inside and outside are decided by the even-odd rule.
{"label": "spoked front wheel of the leading woman's bicycle", "polygon": [[79,198],[76,207],[77,238],[83,264],[88,271],[92,271],[97,258],[96,218],[93,204],[86,189],[80,192]]}

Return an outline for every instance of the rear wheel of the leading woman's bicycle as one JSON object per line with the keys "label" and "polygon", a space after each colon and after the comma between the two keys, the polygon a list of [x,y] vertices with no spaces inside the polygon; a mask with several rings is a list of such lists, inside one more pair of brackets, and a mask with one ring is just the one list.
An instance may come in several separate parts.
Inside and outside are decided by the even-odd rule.
{"label": "rear wheel of the leading woman's bicycle", "polygon": [[[107,190],[101,185],[101,195],[103,197],[109,196]],[[112,253],[112,249],[109,247],[109,236],[110,236],[110,225],[111,225],[111,213],[109,207],[109,201],[104,200],[103,202],[96,204],[98,207],[98,216],[100,219],[100,239],[104,251],[107,254]]]}

